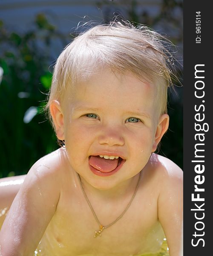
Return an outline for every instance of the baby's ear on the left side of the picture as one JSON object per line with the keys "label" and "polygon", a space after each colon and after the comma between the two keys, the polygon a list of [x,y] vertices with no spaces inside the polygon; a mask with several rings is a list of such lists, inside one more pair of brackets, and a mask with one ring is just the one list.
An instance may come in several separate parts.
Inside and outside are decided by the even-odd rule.
{"label": "baby's ear on the left side of the picture", "polygon": [[59,140],[64,140],[64,120],[60,102],[53,100],[50,103],[49,109],[55,126],[56,136]]}

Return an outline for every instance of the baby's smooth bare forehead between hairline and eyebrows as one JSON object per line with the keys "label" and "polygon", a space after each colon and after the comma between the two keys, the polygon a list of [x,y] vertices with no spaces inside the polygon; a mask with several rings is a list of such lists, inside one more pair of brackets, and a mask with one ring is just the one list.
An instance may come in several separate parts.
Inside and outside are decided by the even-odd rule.
{"label": "baby's smooth bare forehead between hairline and eyebrows", "polygon": [[156,88],[130,72],[102,68],[86,80],[77,81],[66,93],[66,104],[74,108],[118,108],[152,112]]}

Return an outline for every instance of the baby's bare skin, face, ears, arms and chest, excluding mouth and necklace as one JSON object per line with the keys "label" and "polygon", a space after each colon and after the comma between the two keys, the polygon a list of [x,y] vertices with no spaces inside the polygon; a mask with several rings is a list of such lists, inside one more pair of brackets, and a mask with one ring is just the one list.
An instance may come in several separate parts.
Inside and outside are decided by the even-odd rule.
{"label": "baby's bare skin, face, ears, arms and chest, excluding mouth and necklace", "polygon": [[[158,113],[153,85],[108,70],[80,81],[74,89],[51,105],[57,136],[65,140],[66,148],[32,166],[3,224],[0,241],[4,243],[6,237],[23,255],[34,251],[41,239],[38,250],[46,256],[130,256],[157,252],[164,238],[162,225],[170,255],[181,255],[177,241],[181,240],[182,171],[167,158],[152,154],[168,125],[168,116]],[[96,175],[89,157],[97,155],[119,156],[125,163],[113,175]],[[100,237],[94,238],[98,224],[77,172],[103,225],[124,211],[141,172],[130,208]]]}

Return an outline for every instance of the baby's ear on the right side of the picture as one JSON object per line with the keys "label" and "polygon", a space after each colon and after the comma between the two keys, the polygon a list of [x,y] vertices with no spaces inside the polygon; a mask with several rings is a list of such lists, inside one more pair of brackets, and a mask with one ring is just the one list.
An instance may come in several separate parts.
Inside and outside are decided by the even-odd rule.
{"label": "baby's ear on the right side of the picture", "polygon": [[157,129],[155,132],[155,138],[154,138],[154,142],[153,142],[152,152],[154,152],[157,149],[158,143],[161,141],[161,138],[167,131],[167,129],[169,127],[169,119],[170,118],[167,114],[163,114],[160,116],[158,126],[157,126]]}

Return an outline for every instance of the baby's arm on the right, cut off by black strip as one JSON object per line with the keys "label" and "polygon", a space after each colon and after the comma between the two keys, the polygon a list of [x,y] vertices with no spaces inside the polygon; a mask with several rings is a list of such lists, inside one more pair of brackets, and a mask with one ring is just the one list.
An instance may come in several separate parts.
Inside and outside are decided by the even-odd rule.
{"label": "baby's arm on the right, cut off by black strip", "polygon": [[162,176],[158,219],[167,238],[170,256],[182,256],[183,172],[176,164],[170,162]]}

